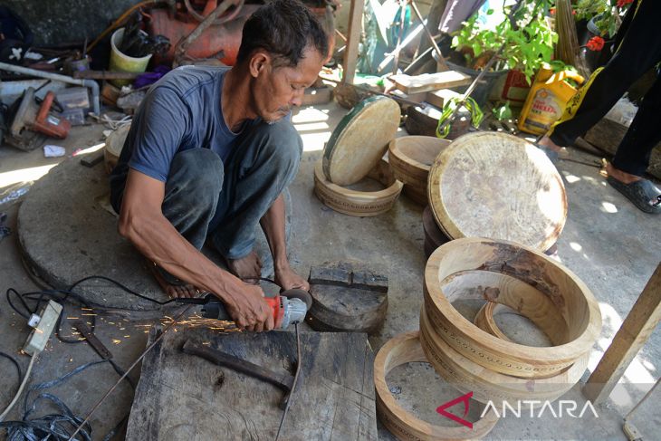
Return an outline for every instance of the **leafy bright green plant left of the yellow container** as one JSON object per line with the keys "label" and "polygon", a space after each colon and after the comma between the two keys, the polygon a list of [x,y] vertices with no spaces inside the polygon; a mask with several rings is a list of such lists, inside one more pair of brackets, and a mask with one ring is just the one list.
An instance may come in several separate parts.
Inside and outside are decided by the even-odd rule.
{"label": "leafy bright green plant left of the yellow container", "polygon": [[[541,64],[551,61],[553,45],[558,42],[558,34],[546,19],[550,5],[549,0],[523,0],[512,20],[506,18],[493,29],[486,28],[475,14],[454,35],[452,45],[465,54],[467,66],[472,69],[483,68],[486,60],[503,47],[493,69],[518,69],[530,83]],[[493,14],[493,10],[487,14]]]}

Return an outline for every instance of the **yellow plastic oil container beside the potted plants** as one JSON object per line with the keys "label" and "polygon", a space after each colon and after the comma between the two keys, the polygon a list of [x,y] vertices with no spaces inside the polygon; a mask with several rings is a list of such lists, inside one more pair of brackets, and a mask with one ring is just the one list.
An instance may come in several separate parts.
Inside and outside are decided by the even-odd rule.
{"label": "yellow plastic oil container beside the potted plants", "polygon": [[578,91],[566,81],[568,79],[579,84],[585,81],[576,72],[553,72],[548,64],[541,67],[523,104],[519,117],[520,130],[543,135],[555,121],[560,120],[567,102]]}

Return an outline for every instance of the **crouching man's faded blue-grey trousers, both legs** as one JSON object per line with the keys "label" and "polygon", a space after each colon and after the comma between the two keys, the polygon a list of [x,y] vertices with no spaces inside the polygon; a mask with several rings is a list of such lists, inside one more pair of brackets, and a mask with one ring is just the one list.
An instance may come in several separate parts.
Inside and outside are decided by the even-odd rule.
{"label": "crouching man's faded blue-grey trousers, both legs", "polygon": [[239,135],[225,163],[209,149],[179,152],[170,165],[163,215],[197,249],[208,238],[225,258],[244,257],[260,219],[296,176],[301,155],[302,139],[288,120]]}

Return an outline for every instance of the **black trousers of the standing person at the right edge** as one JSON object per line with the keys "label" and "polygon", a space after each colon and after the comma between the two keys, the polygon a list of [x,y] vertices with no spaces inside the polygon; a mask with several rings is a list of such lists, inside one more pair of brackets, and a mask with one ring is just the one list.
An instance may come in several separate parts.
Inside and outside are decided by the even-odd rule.
{"label": "black trousers of the standing person at the right edge", "polygon": [[[570,120],[557,124],[551,140],[570,146],[606,115],[625,91],[656,63],[661,62],[661,33],[658,18],[661,2],[637,0],[620,27],[618,51],[600,72],[595,72],[580,107]],[[564,117],[563,117],[564,118]],[[643,176],[652,149],[661,141],[661,78],[647,91],[636,117],[618,146],[613,166],[636,176]]]}

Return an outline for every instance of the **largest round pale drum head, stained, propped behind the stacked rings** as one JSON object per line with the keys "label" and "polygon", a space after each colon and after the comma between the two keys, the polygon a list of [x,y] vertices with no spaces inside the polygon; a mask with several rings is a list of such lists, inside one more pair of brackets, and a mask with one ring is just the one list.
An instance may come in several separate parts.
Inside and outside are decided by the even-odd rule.
{"label": "largest round pale drum head, stained, propped behind the stacked rings", "polygon": [[554,244],[567,220],[567,196],[551,160],[525,139],[470,133],[452,142],[429,172],[438,225],[453,239],[488,237]]}

